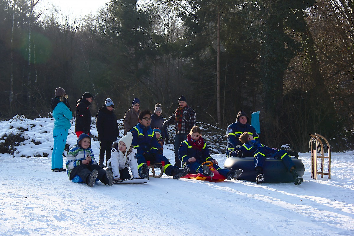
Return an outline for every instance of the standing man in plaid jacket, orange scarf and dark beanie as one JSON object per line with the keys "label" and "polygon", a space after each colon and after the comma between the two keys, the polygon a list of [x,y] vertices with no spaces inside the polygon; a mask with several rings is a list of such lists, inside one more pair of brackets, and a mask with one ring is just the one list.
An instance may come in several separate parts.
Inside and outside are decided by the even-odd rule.
{"label": "standing man in plaid jacket, orange scarf and dark beanie", "polygon": [[179,108],[173,112],[169,119],[164,122],[163,127],[175,123],[176,137],[175,137],[175,166],[181,168],[181,161],[178,158],[178,149],[193,126],[196,126],[195,112],[187,105],[187,100],[182,95],[178,99]]}

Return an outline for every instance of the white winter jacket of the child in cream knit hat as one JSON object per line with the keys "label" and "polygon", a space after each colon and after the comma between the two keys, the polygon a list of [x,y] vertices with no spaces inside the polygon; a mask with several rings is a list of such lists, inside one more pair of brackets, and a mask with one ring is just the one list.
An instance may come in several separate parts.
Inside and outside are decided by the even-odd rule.
{"label": "white winter jacket of the child in cream knit hat", "polygon": [[120,169],[130,167],[130,170],[133,174],[133,178],[138,178],[138,161],[135,157],[136,149],[132,149],[133,152],[129,153],[127,156],[124,156],[123,152],[112,148],[111,158],[107,161],[107,166],[111,163],[113,179],[120,178]]}

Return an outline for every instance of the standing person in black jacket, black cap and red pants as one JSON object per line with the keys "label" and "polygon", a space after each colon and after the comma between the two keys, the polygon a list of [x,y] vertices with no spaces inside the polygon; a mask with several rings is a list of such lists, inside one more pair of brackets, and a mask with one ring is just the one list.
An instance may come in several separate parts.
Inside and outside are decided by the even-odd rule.
{"label": "standing person in black jacket, black cap and red pants", "polygon": [[75,110],[75,133],[76,136],[80,136],[82,133],[90,135],[91,130],[91,112],[89,109],[92,103],[93,95],[89,92],[82,94],[82,98],[76,102]]}

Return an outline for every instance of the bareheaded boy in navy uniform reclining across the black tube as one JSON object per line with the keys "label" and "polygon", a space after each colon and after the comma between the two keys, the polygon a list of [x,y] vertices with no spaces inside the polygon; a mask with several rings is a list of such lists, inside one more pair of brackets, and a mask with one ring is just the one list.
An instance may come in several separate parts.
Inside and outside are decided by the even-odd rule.
{"label": "bareheaded boy in navy uniform reclining across the black tube", "polygon": [[262,184],[264,180],[263,165],[265,157],[278,157],[280,158],[289,172],[292,174],[294,179],[294,184],[299,185],[304,180],[298,176],[296,167],[291,160],[290,155],[285,150],[274,150],[263,144],[259,143],[258,140],[255,140],[252,135],[244,132],[239,137],[239,140],[243,145],[238,148],[237,155],[239,157],[244,156],[254,156],[255,158],[255,171],[256,171],[256,183]]}

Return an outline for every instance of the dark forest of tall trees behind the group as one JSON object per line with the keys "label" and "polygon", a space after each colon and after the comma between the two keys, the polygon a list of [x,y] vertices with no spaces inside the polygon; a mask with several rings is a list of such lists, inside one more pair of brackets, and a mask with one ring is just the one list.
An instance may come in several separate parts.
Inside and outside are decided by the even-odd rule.
{"label": "dark forest of tall trees behind the group", "polygon": [[47,116],[56,87],[69,102],[182,94],[198,121],[227,128],[260,110],[262,143],[308,151],[310,133],[333,151],[354,144],[354,3],[351,0],[112,0],[97,13],[45,13],[40,0],[0,0],[0,118]]}

